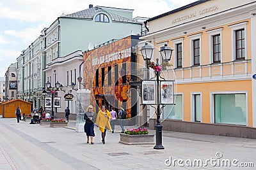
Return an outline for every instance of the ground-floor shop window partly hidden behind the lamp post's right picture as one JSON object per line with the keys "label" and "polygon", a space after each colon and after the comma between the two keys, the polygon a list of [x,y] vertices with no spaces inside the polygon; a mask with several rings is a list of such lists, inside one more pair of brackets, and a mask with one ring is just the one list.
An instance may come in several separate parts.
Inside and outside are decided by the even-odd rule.
{"label": "ground-floor shop window partly hidden behind the lamp post's right picture", "polygon": [[182,103],[182,95],[174,95],[175,105],[166,104],[164,107],[163,118],[165,119],[175,119],[182,120],[183,119],[183,103]]}

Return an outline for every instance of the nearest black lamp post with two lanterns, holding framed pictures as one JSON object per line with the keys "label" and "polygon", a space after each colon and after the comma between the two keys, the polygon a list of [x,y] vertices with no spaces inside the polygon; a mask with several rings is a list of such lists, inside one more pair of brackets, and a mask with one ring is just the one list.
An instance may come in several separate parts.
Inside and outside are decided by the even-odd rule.
{"label": "nearest black lamp post with two lanterns, holding framed pictures", "polygon": [[[147,62],[151,60],[152,54],[153,54],[154,48],[148,43],[145,43],[144,46],[141,47],[141,54],[143,56],[143,59]],[[161,47],[160,49],[161,56],[164,59],[164,61],[169,61],[172,56],[172,48],[168,47],[166,44]],[[159,66],[158,60],[156,59],[156,66]],[[157,83],[157,88],[156,88],[156,95],[157,95],[157,119],[156,119],[156,146],[154,146],[154,149],[164,149],[164,146],[162,145],[162,129],[163,125],[160,124],[160,116],[161,116],[161,111],[160,111],[160,85],[159,85],[159,77],[160,77],[160,72],[155,71],[156,74],[156,83]]]}

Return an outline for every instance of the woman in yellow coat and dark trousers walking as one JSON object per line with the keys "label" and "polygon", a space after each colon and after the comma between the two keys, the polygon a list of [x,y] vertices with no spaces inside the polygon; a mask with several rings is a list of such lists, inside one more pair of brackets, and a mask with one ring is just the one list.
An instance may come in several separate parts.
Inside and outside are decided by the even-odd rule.
{"label": "woman in yellow coat and dark trousers walking", "polygon": [[106,106],[102,105],[101,110],[98,112],[97,119],[96,119],[96,124],[97,127],[99,127],[101,131],[101,137],[102,137],[102,143],[105,144],[105,136],[106,136],[106,131],[108,128],[109,131],[112,131],[111,125],[109,120],[111,119],[111,114],[108,110],[106,110]]}

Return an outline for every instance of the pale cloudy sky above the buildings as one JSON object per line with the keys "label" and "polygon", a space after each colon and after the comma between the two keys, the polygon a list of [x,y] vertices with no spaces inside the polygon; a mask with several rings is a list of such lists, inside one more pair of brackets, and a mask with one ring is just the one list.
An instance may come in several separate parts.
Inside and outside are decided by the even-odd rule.
{"label": "pale cloudy sky above the buildings", "polygon": [[0,1],[0,77],[61,14],[93,6],[125,8],[134,17],[156,17],[195,0],[1,0]]}

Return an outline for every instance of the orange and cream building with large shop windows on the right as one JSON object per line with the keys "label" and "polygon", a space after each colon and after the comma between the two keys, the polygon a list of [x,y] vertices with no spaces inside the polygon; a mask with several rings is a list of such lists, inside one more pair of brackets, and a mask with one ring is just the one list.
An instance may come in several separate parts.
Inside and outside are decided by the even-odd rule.
{"label": "orange and cream building with large shop windows on the right", "polygon": [[[256,138],[256,2],[196,1],[147,26],[141,39],[154,46],[154,60],[164,44],[174,50],[173,66],[162,73],[175,79],[163,130]],[[156,121],[149,122],[153,129]]]}

